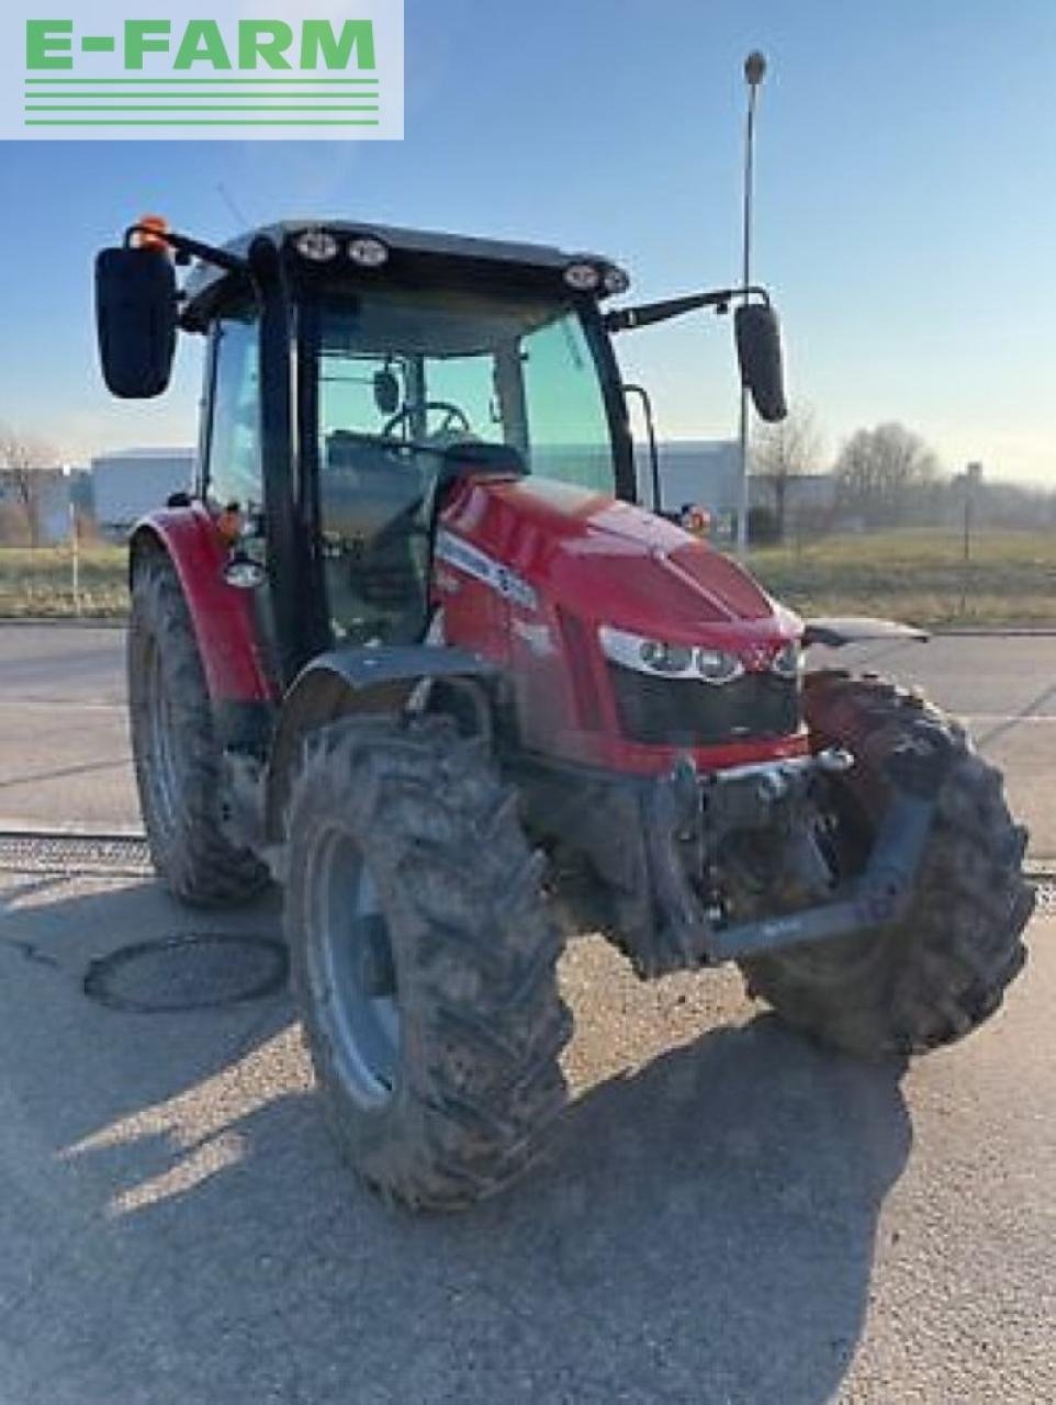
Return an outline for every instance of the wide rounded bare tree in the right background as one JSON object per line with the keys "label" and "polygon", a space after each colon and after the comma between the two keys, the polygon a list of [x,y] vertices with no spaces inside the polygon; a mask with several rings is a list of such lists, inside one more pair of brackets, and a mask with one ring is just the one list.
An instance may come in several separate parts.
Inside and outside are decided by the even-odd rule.
{"label": "wide rounded bare tree in the right background", "polygon": [[837,502],[871,527],[899,523],[914,496],[938,482],[938,459],[904,424],[858,430],[836,461]]}

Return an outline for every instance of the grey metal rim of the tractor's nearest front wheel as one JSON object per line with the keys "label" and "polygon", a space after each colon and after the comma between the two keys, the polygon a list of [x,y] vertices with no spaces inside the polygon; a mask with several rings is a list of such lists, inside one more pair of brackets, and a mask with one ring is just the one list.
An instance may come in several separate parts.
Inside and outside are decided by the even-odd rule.
{"label": "grey metal rim of the tractor's nearest front wheel", "polygon": [[315,1013],[343,1083],[362,1107],[396,1093],[402,1019],[389,924],[351,835],[327,830],[308,874]]}

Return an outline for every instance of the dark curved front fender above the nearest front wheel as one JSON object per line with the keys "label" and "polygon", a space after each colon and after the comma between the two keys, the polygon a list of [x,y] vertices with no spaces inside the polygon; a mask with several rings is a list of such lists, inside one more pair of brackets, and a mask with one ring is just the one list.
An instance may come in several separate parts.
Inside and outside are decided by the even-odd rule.
{"label": "dark curved front fender above the nearest front wheel", "polygon": [[425,681],[484,681],[494,674],[494,667],[480,655],[435,645],[382,645],[320,653],[298,674],[279,714],[267,774],[268,840],[282,839],[293,766],[309,732],[355,714],[399,715]]}

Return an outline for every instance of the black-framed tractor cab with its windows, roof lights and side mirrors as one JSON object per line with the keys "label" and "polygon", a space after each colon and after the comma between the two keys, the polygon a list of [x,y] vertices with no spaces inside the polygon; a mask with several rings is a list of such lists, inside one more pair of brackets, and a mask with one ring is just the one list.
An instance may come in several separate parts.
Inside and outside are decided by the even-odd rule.
{"label": "black-framed tractor cab with its windows, roof lights and side mirrors", "polygon": [[[171,256],[195,260],[183,289]],[[152,218],[98,260],[103,368],[117,395],[157,395],[177,325],[208,337],[195,497],[236,524],[229,579],[270,582],[258,614],[285,684],[334,645],[423,638],[459,479],[635,500],[611,333],[734,294],[605,313],[628,287],[609,260],[548,246],[334,222],[212,249]],[[772,320],[747,295],[741,315]],[[765,333],[772,399],[775,322]],[[758,326],[739,322],[741,341],[758,360]]]}

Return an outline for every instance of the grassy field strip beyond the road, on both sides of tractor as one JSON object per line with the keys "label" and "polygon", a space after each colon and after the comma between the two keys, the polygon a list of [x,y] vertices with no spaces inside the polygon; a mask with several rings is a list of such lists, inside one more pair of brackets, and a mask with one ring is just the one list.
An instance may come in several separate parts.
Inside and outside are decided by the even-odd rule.
{"label": "grassy field strip beyond the road, on both sides of tractor", "polygon": [[[122,615],[124,547],[81,551],[84,615]],[[1056,532],[979,532],[972,561],[955,532],[831,537],[757,548],[751,569],[803,614],[878,614],[920,625],[1056,627]],[[0,548],[0,617],[74,613],[67,548]]]}

